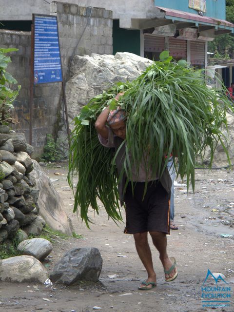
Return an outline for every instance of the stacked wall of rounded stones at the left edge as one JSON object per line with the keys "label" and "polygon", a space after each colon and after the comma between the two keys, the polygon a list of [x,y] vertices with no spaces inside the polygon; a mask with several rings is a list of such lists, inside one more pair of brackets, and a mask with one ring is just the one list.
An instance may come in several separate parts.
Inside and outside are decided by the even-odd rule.
{"label": "stacked wall of rounded stones at the left edge", "polygon": [[17,233],[20,240],[28,234],[40,234],[45,225],[38,216],[32,152],[23,133],[0,126],[0,243]]}

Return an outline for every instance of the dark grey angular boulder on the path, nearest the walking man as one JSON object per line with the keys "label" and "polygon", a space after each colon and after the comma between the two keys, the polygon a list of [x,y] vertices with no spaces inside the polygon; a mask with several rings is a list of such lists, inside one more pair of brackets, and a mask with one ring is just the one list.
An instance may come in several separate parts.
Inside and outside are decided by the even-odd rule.
{"label": "dark grey angular boulder on the path, nearest the walking man", "polygon": [[102,258],[97,248],[73,248],[56,263],[50,279],[54,283],[72,285],[80,280],[97,282]]}

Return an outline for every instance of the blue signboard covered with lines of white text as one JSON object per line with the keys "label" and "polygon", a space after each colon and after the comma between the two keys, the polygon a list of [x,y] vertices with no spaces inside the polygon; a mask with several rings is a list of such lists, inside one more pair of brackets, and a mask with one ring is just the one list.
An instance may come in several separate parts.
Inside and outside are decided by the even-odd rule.
{"label": "blue signboard covered with lines of white text", "polygon": [[34,15],[34,84],[62,81],[56,16]]}

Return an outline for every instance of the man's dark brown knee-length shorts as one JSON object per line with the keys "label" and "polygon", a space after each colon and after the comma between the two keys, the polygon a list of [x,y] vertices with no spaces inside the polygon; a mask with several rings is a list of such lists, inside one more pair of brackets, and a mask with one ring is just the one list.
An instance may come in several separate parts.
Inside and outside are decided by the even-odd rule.
{"label": "man's dark brown knee-length shorts", "polygon": [[[131,183],[124,195],[126,206],[126,228],[124,233],[158,231],[170,234],[170,194],[159,180],[150,181],[143,198],[145,182]],[[143,198],[143,200],[142,200]]]}

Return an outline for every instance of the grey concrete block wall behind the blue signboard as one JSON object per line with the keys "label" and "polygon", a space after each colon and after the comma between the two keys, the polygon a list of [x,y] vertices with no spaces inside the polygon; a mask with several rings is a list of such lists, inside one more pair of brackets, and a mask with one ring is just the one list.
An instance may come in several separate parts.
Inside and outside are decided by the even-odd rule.
{"label": "grey concrete block wall behind the blue signboard", "polygon": [[[52,13],[58,16],[64,76],[66,76],[71,55],[78,41],[75,54],[112,54],[111,11],[93,9],[88,24],[90,8],[59,2],[53,3]],[[21,85],[20,95],[14,103],[16,111],[13,114],[20,122],[16,128],[17,131],[24,132],[29,141],[31,33],[0,30],[0,46],[19,49],[18,52],[11,53],[12,63],[8,71]],[[34,157],[43,152],[46,134],[56,134],[62,124],[60,121],[61,95],[61,83],[41,84],[34,87],[32,134],[32,145],[36,152]]]}

